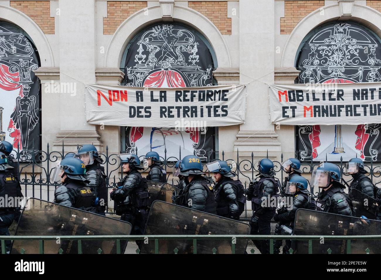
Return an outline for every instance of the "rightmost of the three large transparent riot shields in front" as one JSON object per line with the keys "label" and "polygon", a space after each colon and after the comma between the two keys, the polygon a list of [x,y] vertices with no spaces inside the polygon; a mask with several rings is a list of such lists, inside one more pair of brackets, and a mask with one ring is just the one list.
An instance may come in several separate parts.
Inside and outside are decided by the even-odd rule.
{"label": "rightmost of the three large transparent riot shields in front", "polygon": [[[296,211],[294,235],[378,235],[381,221],[361,219],[313,210],[299,209]],[[291,237],[292,238],[292,237]],[[293,241],[294,253],[308,254],[309,241]],[[352,254],[365,254],[367,248],[370,254],[378,254],[381,248],[380,239],[351,239],[350,247],[347,240],[312,240],[313,254],[346,254],[351,249]]]}

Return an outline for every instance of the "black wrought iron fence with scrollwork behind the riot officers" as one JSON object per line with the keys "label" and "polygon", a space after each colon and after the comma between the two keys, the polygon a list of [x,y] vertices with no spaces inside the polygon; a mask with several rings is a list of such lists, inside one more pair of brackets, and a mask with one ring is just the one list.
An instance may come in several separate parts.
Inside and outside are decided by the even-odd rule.
{"label": "black wrought iron fence with scrollwork behind the riot officers", "polygon": [[[34,149],[33,149],[34,150]],[[22,188],[24,189],[24,195],[26,197],[36,197],[45,199],[48,201],[53,201],[54,196],[53,192],[54,189],[58,186],[57,184],[54,184],[54,182],[50,182],[50,173],[52,172],[52,168],[56,165],[56,163],[59,160],[62,160],[67,154],[70,154],[72,152],[65,152],[65,146],[64,142],[62,141],[62,149],[60,151],[50,150],[49,144],[46,146],[46,150],[34,150],[31,152],[29,161],[25,162],[24,155],[20,155],[20,150],[17,150],[17,154],[15,158],[18,162],[18,168],[20,173],[20,184]],[[258,174],[258,161],[259,158],[254,156],[254,153],[251,153],[251,157],[248,159],[240,159],[242,158],[240,156],[239,150],[234,152],[236,154],[235,158],[225,158],[225,152],[222,151],[221,160],[226,160],[226,162],[229,163],[232,170],[235,171],[237,174],[237,179],[243,181],[243,185],[246,189],[247,184],[249,181],[254,179],[256,177],[256,174]],[[136,148],[136,154],[138,154],[138,149]],[[215,155],[218,154],[216,151],[208,151],[208,155]],[[122,168],[118,163],[117,160],[117,154],[110,154],[109,148],[106,146],[106,153],[99,153],[103,160],[103,166],[105,173],[107,175],[106,183],[107,187],[113,188],[116,186],[117,182],[120,181],[123,178]],[[171,172],[173,166],[176,164],[176,162],[182,158],[181,150],[179,150],[179,157],[167,157],[167,150],[165,149],[164,156],[160,156],[163,162],[163,168],[168,173],[168,182],[171,184],[177,184],[177,178],[172,178]],[[296,155],[297,156],[297,155]],[[214,156],[212,156],[214,157]],[[266,157],[268,158],[268,152]],[[144,155],[140,155],[139,158],[141,160],[144,158]],[[211,158],[208,156],[204,163],[211,162],[214,160],[217,160],[218,158]],[[283,178],[287,176],[287,174],[284,173],[282,169],[282,162],[285,160],[283,158],[283,154],[280,155],[280,162],[274,160],[274,171],[277,172],[275,177],[277,177],[280,182],[283,182]],[[301,170],[303,173],[311,173],[314,168],[316,168],[320,162],[314,162],[311,159],[311,162],[303,162],[301,163]],[[345,176],[343,174],[343,169],[345,162],[343,162],[343,158],[341,157],[340,162],[336,163],[338,167],[341,170],[341,174],[343,175],[341,177],[341,181],[343,184],[350,184],[352,181],[351,176]],[[371,178],[372,181],[378,181],[374,182],[376,185],[378,185],[381,181],[379,181],[378,178],[381,177],[381,166],[378,163],[375,163],[373,161],[366,162],[365,163],[365,170],[368,172],[367,175]],[[204,171],[210,176],[211,174],[207,171],[205,165],[204,165]],[[144,170],[143,172],[146,172],[147,170]],[[309,177],[306,176],[307,179]],[[314,189],[310,186],[310,191],[312,194],[312,197],[317,197],[319,195],[319,189]],[[39,192],[39,194],[38,194]],[[39,197],[38,197],[39,195]],[[112,213],[112,211],[109,211],[107,208],[107,213]],[[247,208],[247,205],[245,206],[245,211],[242,214],[241,218],[243,220],[248,219],[251,217],[251,209]]]}

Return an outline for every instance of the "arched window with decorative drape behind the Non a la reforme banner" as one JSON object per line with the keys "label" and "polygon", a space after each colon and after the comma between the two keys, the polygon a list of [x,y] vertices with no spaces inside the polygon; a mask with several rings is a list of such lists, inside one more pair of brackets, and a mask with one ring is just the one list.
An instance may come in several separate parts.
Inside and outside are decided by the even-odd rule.
{"label": "arched window with decorative drape behind the Non a la reforme banner", "polygon": [[[159,23],[142,30],[128,44],[122,60],[125,85],[139,87],[211,86],[216,56],[199,32],[179,23]],[[123,135],[124,134],[124,135]],[[126,152],[164,157],[196,154],[207,158],[216,150],[216,128],[125,127],[122,145]]]}

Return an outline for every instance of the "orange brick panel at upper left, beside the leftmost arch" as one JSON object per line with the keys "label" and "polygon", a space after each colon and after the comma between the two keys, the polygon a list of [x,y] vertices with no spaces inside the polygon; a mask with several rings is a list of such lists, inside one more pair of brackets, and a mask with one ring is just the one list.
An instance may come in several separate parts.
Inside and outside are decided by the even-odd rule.
{"label": "orange brick panel at upper left, beside the leftmost arch", "polygon": [[33,19],[45,34],[54,34],[54,18],[50,17],[50,1],[10,1],[10,6]]}

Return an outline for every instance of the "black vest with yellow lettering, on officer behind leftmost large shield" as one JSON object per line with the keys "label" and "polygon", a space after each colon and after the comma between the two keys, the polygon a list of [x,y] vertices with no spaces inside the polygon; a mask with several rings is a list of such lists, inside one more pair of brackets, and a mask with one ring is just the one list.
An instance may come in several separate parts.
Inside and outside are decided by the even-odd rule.
{"label": "black vest with yellow lettering, on officer behind leftmost large shield", "polygon": [[64,183],[64,186],[67,187],[67,189],[71,189],[74,193],[74,208],[95,212],[95,207],[93,206],[94,193],[90,187],[73,179]]}

